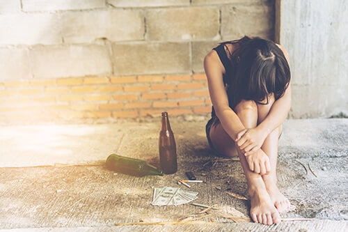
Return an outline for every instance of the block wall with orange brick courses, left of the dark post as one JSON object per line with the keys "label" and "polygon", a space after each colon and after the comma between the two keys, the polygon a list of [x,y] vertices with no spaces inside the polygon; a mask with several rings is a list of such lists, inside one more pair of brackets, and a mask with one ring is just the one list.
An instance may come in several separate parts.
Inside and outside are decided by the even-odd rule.
{"label": "block wall with orange brick courses, left of the dark post", "polygon": [[273,39],[267,0],[0,0],[1,121],[209,114],[203,58]]}

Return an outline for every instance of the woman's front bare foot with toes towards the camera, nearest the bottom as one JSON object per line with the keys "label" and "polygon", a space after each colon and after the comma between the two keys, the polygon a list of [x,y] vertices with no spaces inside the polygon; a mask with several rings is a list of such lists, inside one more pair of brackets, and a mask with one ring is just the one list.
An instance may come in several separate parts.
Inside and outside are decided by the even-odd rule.
{"label": "woman's front bare foot with toes towards the camera, nearest the bottom", "polygon": [[250,215],[254,222],[271,225],[280,222],[280,215],[266,189],[249,189],[251,199]]}

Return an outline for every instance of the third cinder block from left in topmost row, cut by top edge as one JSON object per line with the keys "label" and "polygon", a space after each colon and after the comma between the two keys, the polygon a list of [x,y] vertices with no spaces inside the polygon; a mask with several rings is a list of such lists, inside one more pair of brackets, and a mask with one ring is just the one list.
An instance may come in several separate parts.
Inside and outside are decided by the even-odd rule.
{"label": "third cinder block from left in topmost row, cut by top edge", "polygon": [[190,0],[107,0],[115,7],[188,6]]}

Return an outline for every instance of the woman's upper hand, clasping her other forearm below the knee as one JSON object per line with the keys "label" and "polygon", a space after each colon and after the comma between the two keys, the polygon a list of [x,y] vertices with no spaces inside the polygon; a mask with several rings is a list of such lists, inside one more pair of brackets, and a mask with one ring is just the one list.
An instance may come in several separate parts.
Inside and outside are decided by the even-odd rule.
{"label": "woman's upper hand, clasping her other forearm below the knee", "polygon": [[244,155],[251,155],[259,150],[267,134],[256,128],[245,129],[237,134],[236,144]]}

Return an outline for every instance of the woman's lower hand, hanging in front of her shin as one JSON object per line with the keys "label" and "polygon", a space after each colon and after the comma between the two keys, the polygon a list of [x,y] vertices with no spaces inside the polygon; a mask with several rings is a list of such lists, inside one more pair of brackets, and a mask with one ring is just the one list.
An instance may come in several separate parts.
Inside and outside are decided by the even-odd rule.
{"label": "woman's lower hand, hanging in front of her shin", "polygon": [[271,171],[269,157],[262,149],[258,149],[252,155],[246,156],[246,162],[248,162],[251,171],[260,175],[267,175]]}

